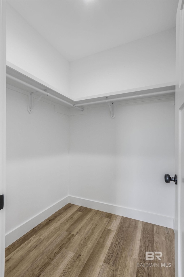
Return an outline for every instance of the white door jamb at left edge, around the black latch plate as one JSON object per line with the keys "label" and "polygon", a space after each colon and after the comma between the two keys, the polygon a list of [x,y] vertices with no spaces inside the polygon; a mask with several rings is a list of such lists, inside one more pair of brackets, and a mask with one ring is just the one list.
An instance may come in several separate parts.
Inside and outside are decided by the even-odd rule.
{"label": "white door jamb at left edge, around the black latch plate", "polygon": [[[0,195],[5,195],[6,2],[0,0]],[[0,210],[0,276],[5,265],[5,209]]]}

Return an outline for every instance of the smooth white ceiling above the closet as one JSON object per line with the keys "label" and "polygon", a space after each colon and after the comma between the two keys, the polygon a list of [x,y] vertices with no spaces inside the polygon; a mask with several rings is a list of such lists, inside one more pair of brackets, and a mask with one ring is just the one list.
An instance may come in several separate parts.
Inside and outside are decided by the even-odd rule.
{"label": "smooth white ceiling above the closet", "polygon": [[72,61],[176,26],[177,0],[8,0]]}

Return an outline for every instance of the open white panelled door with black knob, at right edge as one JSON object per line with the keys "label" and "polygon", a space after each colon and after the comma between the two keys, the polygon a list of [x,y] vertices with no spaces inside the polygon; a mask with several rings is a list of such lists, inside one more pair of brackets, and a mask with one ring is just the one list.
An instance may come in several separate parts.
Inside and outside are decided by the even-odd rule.
{"label": "open white panelled door with black knob, at right edge", "polygon": [[176,174],[175,186],[175,267],[176,277],[184,276],[184,0],[177,10],[176,43]]}

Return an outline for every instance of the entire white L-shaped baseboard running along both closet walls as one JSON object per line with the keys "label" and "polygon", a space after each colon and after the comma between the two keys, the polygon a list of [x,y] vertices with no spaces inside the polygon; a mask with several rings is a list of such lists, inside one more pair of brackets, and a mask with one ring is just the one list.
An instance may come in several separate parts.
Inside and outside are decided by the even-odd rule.
{"label": "entire white L-shaped baseboard running along both closet walls", "polygon": [[14,230],[11,230],[6,234],[5,238],[5,247],[9,246],[11,243],[25,235],[32,228],[40,224],[43,220],[48,218],[50,215],[64,207],[66,204],[71,203],[75,205],[84,206],[87,208],[104,211],[107,213],[114,213],[116,215],[121,215],[129,218],[133,218],[136,220],[141,220],[145,222],[149,222],[156,225],[161,225],[164,227],[173,229],[173,218],[167,217],[164,215],[157,215],[154,213],[147,213],[145,211],[139,211],[134,209],[129,209],[125,207],[110,205],[107,203],[96,202],[88,199],[78,198],[74,196],[67,196],[59,202],[55,203],[48,209],[42,211],[41,213],[35,215],[31,219],[27,220],[20,226],[16,227]]}

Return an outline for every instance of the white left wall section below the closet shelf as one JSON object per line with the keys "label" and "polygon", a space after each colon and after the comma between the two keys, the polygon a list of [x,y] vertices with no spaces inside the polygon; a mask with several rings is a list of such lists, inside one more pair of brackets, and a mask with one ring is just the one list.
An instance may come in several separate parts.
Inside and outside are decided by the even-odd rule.
{"label": "white left wall section below the closet shelf", "polygon": [[68,116],[42,101],[27,107],[7,89],[6,234],[68,196]]}

